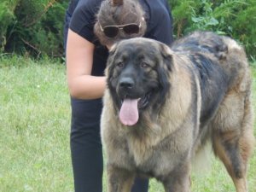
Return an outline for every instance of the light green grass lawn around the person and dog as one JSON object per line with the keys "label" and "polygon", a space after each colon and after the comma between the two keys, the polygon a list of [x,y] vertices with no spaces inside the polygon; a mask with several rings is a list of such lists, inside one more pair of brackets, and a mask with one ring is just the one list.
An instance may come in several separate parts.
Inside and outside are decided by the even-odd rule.
{"label": "light green grass lawn around the person and dog", "polygon": [[[255,78],[253,67],[254,108]],[[0,191],[73,191],[69,127],[65,66],[47,59],[0,58]],[[224,166],[214,158],[209,173],[192,178],[194,192],[235,191]],[[256,191],[255,151],[247,178],[250,191]],[[149,191],[164,190],[152,179]]]}

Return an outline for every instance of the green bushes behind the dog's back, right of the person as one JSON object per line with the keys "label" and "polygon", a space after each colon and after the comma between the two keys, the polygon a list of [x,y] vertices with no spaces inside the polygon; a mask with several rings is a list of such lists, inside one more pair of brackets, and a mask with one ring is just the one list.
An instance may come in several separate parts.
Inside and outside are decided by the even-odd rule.
{"label": "green bushes behind the dog's back, right of the person", "polygon": [[256,56],[255,0],[168,0],[177,38],[195,30],[207,30],[235,38]]}

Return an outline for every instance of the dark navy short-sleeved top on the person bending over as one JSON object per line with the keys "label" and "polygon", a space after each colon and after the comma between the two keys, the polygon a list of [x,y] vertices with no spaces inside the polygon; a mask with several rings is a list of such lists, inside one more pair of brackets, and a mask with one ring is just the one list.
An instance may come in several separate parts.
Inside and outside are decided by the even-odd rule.
{"label": "dark navy short-sleeved top on the person bending over", "polygon": [[[147,32],[144,38],[153,38],[164,44],[172,43],[172,15],[167,0],[139,0],[146,15]],[[97,40],[93,26],[96,23],[102,0],[73,0],[67,13],[72,15],[69,28],[95,44],[93,68],[91,75],[103,76],[108,58],[108,49]]]}

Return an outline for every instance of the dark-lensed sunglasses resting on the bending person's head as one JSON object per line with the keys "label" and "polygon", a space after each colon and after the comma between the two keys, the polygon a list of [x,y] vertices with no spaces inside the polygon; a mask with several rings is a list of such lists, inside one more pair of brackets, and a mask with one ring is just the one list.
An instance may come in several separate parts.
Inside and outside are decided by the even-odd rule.
{"label": "dark-lensed sunglasses resting on the bending person's head", "polygon": [[123,30],[123,32],[125,32],[125,34],[127,35],[137,34],[140,31],[142,23],[140,22],[139,25],[137,25],[137,23],[130,23],[130,24],[125,24],[120,26],[103,26],[103,27],[99,23],[99,26],[102,32],[104,32],[104,34],[108,38],[115,38],[119,34],[119,30]]}

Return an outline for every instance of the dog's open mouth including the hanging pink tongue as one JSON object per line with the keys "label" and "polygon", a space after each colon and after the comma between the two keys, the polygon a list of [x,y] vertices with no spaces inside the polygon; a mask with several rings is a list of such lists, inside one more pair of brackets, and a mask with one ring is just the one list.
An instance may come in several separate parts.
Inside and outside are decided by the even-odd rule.
{"label": "dog's open mouth including the hanging pink tongue", "polygon": [[136,125],[139,119],[139,110],[146,108],[149,102],[150,93],[140,98],[129,98],[125,96],[125,99],[121,103],[119,111],[119,119],[124,125]]}

